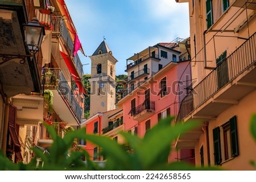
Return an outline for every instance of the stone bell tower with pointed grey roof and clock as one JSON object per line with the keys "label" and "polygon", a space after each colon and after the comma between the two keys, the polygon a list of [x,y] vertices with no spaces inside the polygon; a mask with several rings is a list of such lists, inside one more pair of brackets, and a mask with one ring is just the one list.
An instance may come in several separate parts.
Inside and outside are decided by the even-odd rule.
{"label": "stone bell tower with pointed grey roof and clock", "polygon": [[91,64],[90,81],[90,116],[115,109],[115,63],[105,40],[89,56]]}

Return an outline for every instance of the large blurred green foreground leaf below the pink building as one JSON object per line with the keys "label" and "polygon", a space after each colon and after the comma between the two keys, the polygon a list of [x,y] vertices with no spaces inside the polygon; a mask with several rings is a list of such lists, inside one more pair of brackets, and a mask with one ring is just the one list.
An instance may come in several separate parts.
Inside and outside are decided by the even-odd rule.
{"label": "large blurred green foreground leaf below the pink building", "polygon": [[[138,152],[144,170],[150,170],[155,164],[166,163],[170,146],[179,137],[180,133],[185,133],[200,124],[198,122],[185,122],[172,126],[172,119],[168,117],[159,121],[159,125],[153,127],[144,137],[141,150]],[[162,157],[162,155],[164,156]],[[162,161],[159,161],[159,159]]]}

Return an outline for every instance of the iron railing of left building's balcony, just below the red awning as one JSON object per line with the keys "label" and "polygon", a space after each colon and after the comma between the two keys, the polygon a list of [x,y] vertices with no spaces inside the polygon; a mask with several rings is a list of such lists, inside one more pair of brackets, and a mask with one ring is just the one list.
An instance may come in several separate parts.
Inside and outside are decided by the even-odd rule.
{"label": "iron railing of left building's balcony, just below the red awning", "polygon": [[68,101],[69,107],[71,107],[76,117],[81,122],[82,108],[80,107],[79,102],[77,102],[71,87],[68,85],[68,81],[65,79],[63,71],[61,69],[45,68],[42,74],[42,85],[44,86],[44,89],[58,90],[59,94]]}

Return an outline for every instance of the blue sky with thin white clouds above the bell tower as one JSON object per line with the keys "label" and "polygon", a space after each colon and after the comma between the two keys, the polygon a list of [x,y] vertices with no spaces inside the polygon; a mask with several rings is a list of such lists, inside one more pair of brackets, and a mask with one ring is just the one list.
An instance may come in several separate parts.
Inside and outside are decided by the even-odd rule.
{"label": "blue sky with thin white clouds above the bell tower", "polygon": [[[105,36],[118,60],[116,75],[126,74],[126,59],[148,46],[189,37],[188,3],[175,0],[65,0],[86,56]],[[90,58],[79,51],[84,73]]]}

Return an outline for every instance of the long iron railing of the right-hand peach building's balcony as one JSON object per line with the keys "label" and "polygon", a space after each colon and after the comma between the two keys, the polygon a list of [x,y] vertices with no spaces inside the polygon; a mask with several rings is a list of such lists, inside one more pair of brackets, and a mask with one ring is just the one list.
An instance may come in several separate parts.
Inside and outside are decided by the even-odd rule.
{"label": "long iron railing of the right-hand peach building's balcony", "polygon": [[[256,63],[256,33],[217,65],[182,101],[177,121],[197,109],[218,90]],[[193,102],[193,106],[192,103]]]}

